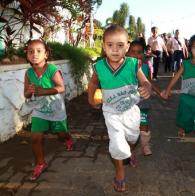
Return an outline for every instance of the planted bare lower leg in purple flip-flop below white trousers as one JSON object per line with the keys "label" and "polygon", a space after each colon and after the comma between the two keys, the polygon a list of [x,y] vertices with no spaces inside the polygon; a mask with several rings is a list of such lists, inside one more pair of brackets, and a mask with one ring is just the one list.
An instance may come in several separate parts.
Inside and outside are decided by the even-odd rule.
{"label": "planted bare lower leg in purple flip-flop below white trousers", "polygon": [[114,178],[114,189],[117,192],[124,192],[125,189],[125,171],[123,166],[123,160],[114,159],[116,175]]}

